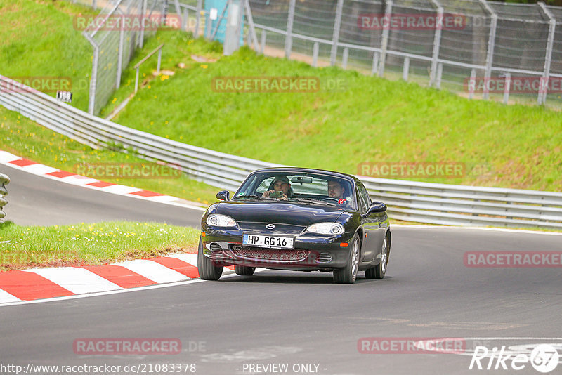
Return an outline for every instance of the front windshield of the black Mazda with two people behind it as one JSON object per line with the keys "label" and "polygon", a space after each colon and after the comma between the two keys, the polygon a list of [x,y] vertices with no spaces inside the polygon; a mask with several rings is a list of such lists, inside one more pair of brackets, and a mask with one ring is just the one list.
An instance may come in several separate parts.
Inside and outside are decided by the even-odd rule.
{"label": "front windshield of the black Mazda with two people behind it", "polygon": [[346,178],[320,173],[261,172],[242,183],[234,200],[270,200],[335,204],[356,209],[353,184]]}

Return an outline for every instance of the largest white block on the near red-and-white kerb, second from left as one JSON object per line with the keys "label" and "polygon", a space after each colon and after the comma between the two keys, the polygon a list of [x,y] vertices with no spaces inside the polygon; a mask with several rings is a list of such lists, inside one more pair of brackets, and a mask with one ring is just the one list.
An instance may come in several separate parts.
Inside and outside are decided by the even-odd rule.
{"label": "largest white block on the near red-and-white kerb, second from left", "polygon": [[23,271],[36,273],[39,276],[45,277],[74,294],[122,289],[119,285],[113,284],[109,280],[85,268],[34,268],[32,270]]}

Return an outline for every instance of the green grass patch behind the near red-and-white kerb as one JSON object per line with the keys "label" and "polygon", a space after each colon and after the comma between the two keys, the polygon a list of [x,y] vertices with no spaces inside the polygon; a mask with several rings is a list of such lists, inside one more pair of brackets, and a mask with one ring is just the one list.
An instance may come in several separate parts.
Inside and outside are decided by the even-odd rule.
{"label": "green grass patch behind the near red-and-white kerb", "polygon": [[200,232],[160,223],[20,226],[0,223],[0,270],[95,265],[195,252]]}

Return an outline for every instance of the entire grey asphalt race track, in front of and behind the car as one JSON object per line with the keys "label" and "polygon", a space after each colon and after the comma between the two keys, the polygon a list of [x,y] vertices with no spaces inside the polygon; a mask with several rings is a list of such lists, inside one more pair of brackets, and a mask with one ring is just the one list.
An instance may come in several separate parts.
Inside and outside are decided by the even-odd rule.
{"label": "entire grey asphalt race track, in front of and behind the car", "polygon": [[[124,218],[189,225],[201,216],[8,172],[8,215],[16,222]],[[467,338],[467,347],[478,342],[491,350],[562,336],[561,268],[467,268],[463,255],[473,250],[561,251],[562,237],[397,227],[383,280],[360,272],[356,284],[336,285],[329,273],[267,270],[218,282],[4,306],[0,364],[140,364],[148,371],[150,364],[190,363],[196,374],[540,374],[530,364],[521,371],[469,370],[469,355],[359,353],[365,337]],[[178,338],[183,350],[79,355],[73,342],[81,338]],[[252,373],[250,364],[288,364],[288,370]],[[318,372],[293,371],[299,364],[318,364]],[[551,374],[561,371],[559,364]]]}

